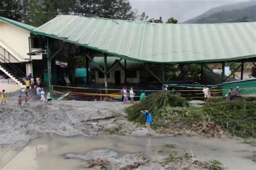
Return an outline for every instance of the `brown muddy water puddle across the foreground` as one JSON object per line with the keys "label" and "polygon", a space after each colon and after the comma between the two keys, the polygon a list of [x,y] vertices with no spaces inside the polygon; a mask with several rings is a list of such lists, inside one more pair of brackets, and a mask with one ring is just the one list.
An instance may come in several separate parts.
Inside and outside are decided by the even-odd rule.
{"label": "brown muddy water puddle across the foreground", "polygon": [[[242,144],[237,139],[207,139],[200,137],[132,137],[101,135],[99,137],[61,137],[46,134],[33,139],[29,144],[15,151],[0,149],[0,169],[81,169],[86,165],[80,159],[65,159],[66,153],[84,153],[99,149],[109,149],[118,154],[138,153],[154,161],[164,159],[167,153],[159,152],[164,144],[175,144],[173,151],[191,152],[199,160],[219,160],[228,169],[256,169],[256,164],[248,159],[256,148]],[[152,163],[151,163],[152,164]],[[160,165],[149,165],[140,169],[162,169]]]}

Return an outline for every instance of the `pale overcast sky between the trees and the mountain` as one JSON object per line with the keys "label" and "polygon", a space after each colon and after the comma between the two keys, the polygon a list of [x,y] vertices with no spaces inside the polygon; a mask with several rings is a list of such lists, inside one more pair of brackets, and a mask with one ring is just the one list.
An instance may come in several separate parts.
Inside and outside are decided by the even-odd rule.
{"label": "pale overcast sky between the trees and the mountain", "polygon": [[[247,1],[247,0],[244,0]],[[179,23],[186,21],[187,19],[194,18],[201,13],[204,13],[211,8],[244,2],[242,0],[130,0],[130,3],[134,9],[138,10],[138,14],[143,11],[149,16],[149,18],[159,18],[160,16],[167,20],[167,18],[177,18]]]}

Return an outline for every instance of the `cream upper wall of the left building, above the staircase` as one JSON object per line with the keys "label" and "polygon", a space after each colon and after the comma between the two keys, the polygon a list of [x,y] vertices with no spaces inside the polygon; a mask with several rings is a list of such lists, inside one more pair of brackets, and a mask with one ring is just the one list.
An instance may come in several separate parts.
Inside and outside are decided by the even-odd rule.
{"label": "cream upper wall of the left building, above the staircase", "polygon": [[[18,57],[22,57],[21,60],[29,59],[29,56],[26,55],[29,53],[29,37],[30,32],[18,28],[17,26],[0,22],[0,40],[2,40],[5,45],[8,45],[11,50],[15,51]],[[11,53],[11,51],[9,52]],[[12,55],[15,56],[15,54]]]}

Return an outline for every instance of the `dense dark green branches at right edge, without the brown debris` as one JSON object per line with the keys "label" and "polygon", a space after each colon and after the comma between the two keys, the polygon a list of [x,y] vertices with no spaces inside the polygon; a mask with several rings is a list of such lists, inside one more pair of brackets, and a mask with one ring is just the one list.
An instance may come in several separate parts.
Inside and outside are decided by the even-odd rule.
{"label": "dense dark green branches at right edge, without the brown debris", "polygon": [[255,101],[219,101],[191,110],[189,115],[191,122],[213,121],[232,135],[256,137]]}

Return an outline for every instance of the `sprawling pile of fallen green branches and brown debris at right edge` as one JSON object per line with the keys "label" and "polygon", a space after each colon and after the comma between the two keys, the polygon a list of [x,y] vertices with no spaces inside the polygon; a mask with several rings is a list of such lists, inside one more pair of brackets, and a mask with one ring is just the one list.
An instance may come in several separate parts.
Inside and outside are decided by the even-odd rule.
{"label": "sprawling pile of fallen green branches and brown debris at right edge", "polygon": [[[219,100],[200,108],[164,107],[160,120],[183,125],[193,132],[221,134],[221,129],[240,137],[256,137],[256,102]],[[157,123],[158,124],[158,123]],[[163,121],[159,121],[163,125]],[[165,124],[164,124],[165,125]],[[173,127],[173,126],[172,126]],[[173,129],[173,128],[172,128]]]}

